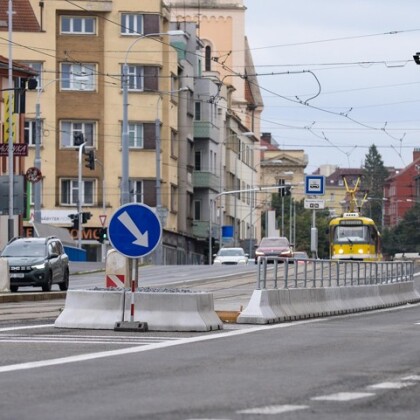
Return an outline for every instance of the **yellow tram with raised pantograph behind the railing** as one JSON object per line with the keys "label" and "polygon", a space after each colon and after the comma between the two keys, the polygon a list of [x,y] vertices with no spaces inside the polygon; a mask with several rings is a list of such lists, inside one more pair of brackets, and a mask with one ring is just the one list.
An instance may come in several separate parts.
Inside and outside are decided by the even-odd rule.
{"label": "yellow tram with raised pantograph behind the railing", "polygon": [[[381,234],[375,222],[369,217],[360,216],[354,211],[357,204],[356,191],[349,189],[346,179],[344,184],[351,196],[350,211],[329,223],[330,258],[332,260],[379,261],[382,259]],[[363,198],[363,202],[366,196]],[[359,211],[362,206],[358,206]]]}

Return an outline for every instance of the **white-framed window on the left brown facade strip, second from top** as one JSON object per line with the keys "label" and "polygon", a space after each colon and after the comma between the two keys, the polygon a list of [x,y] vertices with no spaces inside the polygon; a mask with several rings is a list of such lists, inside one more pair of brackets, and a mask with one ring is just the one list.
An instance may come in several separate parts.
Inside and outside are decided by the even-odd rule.
{"label": "white-framed window on the left brown facade strip, second from top", "polygon": [[95,65],[62,63],[60,83],[62,90],[95,90]]}

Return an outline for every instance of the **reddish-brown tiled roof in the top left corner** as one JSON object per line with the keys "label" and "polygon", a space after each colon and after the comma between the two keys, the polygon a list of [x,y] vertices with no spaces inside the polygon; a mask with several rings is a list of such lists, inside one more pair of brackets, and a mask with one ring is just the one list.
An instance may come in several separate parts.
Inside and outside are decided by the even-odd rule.
{"label": "reddish-brown tiled roof in the top left corner", "polygon": [[[41,26],[32,9],[29,0],[13,0],[13,32],[40,32]],[[0,1],[0,31],[8,31],[7,1]]]}

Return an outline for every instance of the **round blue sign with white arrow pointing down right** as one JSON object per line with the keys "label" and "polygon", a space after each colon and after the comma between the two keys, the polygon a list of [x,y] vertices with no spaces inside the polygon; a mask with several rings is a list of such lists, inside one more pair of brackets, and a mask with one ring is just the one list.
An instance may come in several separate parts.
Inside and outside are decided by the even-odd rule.
{"label": "round blue sign with white arrow pointing down right", "polygon": [[154,211],[145,204],[121,206],[111,217],[108,237],[113,248],[128,258],[150,254],[162,237],[162,225]]}

